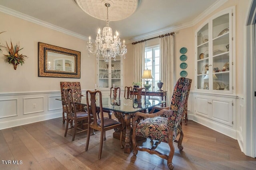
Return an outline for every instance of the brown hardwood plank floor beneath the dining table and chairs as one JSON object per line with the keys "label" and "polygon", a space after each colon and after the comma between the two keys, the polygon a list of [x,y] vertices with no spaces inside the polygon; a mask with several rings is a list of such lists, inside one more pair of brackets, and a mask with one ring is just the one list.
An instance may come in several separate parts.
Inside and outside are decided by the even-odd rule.
{"label": "brown hardwood plank floor beneath the dining table and chairs", "polygon": [[[74,142],[70,142],[72,136],[64,137],[64,130],[62,117],[1,130],[0,170],[168,170],[167,161],[156,155],[124,153],[118,139],[112,137],[114,131],[106,132],[102,158],[98,160],[100,133],[90,137],[85,152],[86,132],[77,134]],[[256,169],[256,159],[245,156],[236,140],[194,121],[183,125],[183,131],[184,149],[180,151],[174,143],[174,169]],[[150,145],[150,141],[140,142]],[[165,143],[160,145],[160,149],[169,148]],[[7,164],[8,160],[11,164]],[[21,160],[22,164],[13,164],[13,160]]]}

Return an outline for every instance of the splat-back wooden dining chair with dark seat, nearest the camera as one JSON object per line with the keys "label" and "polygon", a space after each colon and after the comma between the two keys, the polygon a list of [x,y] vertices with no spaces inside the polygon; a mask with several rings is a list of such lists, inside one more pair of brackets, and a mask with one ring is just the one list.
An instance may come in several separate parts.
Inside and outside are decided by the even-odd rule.
{"label": "splat-back wooden dining chair with dark seat, nearest the camera", "polygon": [[[97,112],[96,95],[98,95],[97,100],[99,102],[99,107],[100,107],[100,118],[97,117],[97,113],[96,113]],[[89,96],[90,96],[90,99],[89,99]],[[99,90],[96,90],[96,91],[87,90],[86,91],[86,103],[87,103],[87,107],[88,107],[88,114],[92,115],[92,117],[89,117],[85,151],[88,150],[91,129],[100,131],[100,148],[99,148],[98,159],[100,159],[101,155],[102,155],[104,133],[110,129],[120,129],[120,145],[121,145],[121,148],[124,148],[122,145],[122,133],[123,133],[123,129],[124,129],[124,127],[123,127],[124,121],[123,121],[123,119],[121,119],[122,123],[120,123],[113,119],[104,117],[103,109],[102,109],[102,94],[101,94],[101,92]]]}

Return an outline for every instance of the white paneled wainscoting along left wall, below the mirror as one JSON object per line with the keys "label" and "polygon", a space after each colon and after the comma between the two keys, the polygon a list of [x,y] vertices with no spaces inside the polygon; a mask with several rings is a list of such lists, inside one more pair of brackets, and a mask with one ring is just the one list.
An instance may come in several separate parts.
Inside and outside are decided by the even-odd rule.
{"label": "white paneled wainscoting along left wall, below the mirror", "polygon": [[0,93],[0,129],[62,117],[60,91]]}

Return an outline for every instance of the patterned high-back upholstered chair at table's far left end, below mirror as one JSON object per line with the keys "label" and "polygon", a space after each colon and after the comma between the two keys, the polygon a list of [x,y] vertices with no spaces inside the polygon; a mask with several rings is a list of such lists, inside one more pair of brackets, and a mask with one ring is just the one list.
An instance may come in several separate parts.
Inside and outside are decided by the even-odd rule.
{"label": "patterned high-back upholstered chair at table's far left end, below mirror", "polygon": [[[66,108],[65,108],[65,104],[64,104],[64,96],[62,93],[63,89],[72,89],[73,91],[73,99],[75,103],[79,103],[81,102],[81,96],[82,95],[82,91],[81,91],[81,85],[80,82],[60,82],[60,92],[61,92],[61,99],[62,99],[62,122],[65,123],[66,121]],[[76,109],[78,109],[78,111],[85,111],[84,106],[76,104]],[[71,122],[72,123],[72,122]]]}

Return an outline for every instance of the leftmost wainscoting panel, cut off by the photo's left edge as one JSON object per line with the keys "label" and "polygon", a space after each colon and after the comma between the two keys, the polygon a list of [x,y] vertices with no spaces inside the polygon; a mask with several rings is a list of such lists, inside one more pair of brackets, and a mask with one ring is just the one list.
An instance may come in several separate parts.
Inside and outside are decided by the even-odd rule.
{"label": "leftmost wainscoting panel, cut off by the photo's left edge", "polygon": [[0,108],[1,108],[0,119],[5,117],[18,116],[17,104],[18,104],[18,99],[0,100]]}

